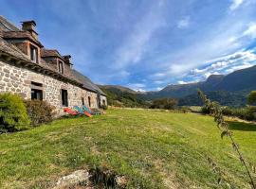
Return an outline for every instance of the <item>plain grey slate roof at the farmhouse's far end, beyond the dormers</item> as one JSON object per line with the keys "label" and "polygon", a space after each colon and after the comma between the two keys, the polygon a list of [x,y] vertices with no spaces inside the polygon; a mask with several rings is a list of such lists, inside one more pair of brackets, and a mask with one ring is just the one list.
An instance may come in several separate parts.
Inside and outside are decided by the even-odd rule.
{"label": "plain grey slate roof at the farmhouse's far end, beyond the dormers", "polygon": [[94,83],[90,80],[90,78],[83,76],[83,75],[82,75],[80,72],[78,72],[77,70],[73,70],[73,75],[74,75],[75,77],[77,77],[77,79],[79,79],[79,80],[82,82],[84,88],[89,89],[89,90],[94,91],[94,92],[98,92],[98,93],[100,93],[100,94],[102,94],[102,95],[106,95],[106,94],[104,94],[104,93],[101,91],[101,89],[100,89],[96,84],[94,84]]}

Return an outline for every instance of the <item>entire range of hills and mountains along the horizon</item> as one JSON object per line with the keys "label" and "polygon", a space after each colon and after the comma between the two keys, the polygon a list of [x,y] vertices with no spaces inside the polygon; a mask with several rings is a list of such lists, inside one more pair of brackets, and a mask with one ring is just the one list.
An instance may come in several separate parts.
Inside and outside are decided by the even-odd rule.
{"label": "entire range of hills and mountains along the horizon", "polygon": [[[168,85],[158,92],[139,93],[127,87],[117,85],[100,86],[112,99],[131,100],[129,106],[147,104],[146,101],[163,97],[179,99],[179,105],[201,105],[197,96],[197,89],[204,91],[210,99],[220,102],[225,106],[243,106],[246,104],[247,94],[256,90],[256,66],[235,71],[227,76],[211,75],[205,81],[188,84]],[[115,96],[115,97],[113,97]],[[126,99],[124,99],[126,98]],[[127,103],[126,103],[127,104]]]}

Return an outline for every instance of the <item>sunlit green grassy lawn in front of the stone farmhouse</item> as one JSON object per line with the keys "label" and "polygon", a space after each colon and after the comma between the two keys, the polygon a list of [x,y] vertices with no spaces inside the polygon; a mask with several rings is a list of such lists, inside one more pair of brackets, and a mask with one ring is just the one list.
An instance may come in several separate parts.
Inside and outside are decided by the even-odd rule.
{"label": "sunlit green grassy lawn in front of the stone farmhouse", "polygon": [[[256,163],[256,126],[230,122],[246,159]],[[0,136],[0,188],[47,188],[84,167],[126,175],[129,188],[227,188],[217,184],[210,157],[237,188],[244,168],[210,116],[109,110]]]}

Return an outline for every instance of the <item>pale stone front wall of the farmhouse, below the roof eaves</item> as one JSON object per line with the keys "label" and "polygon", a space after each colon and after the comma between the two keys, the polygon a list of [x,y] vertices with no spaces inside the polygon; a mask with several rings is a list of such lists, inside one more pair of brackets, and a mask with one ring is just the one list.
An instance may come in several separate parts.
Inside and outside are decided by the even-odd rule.
{"label": "pale stone front wall of the farmhouse, below the roof eaves", "polygon": [[88,106],[88,96],[90,96],[91,108],[98,108],[96,93],[0,60],[0,93],[21,94],[25,99],[30,99],[31,81],[43,84],[43,99],[56,107],[58,112],[63,112],[64,108],[61,97],[62,89],[67,90],[69,107],[81,106],[82,97],[84,104]]}

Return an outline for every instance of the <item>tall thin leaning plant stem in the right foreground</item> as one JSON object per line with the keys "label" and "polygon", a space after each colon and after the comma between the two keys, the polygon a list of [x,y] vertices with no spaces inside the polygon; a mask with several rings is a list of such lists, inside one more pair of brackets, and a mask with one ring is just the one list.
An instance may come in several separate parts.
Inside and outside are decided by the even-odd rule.
{"label": "tall thin leaning plant stem in the right foreground", "polygon": [[223,116],[222,109],[221,109],[220,105],[217,102],[211,102],[210,99],[207,98],[207,96],[200,90],[198,90],[198,95],[203,100],[203,102],[205,104],[205,108],[210,110],[210,114],[214,117],[214,121],[217,123],[218,129],[220,129],[222,131],[221,138],[223,138],[224,136],[229,137],[234,150],[237,152],[240,162],[246,168],[247,176],[248,176],[248,179],[250,180],[250,184],[251,184],[252,188],[256,189],[256,186],[254,184],[252,176],[247,167],[246,160],[244,159],[238,145],[234,142],[232,132],[229,130],[229,124],[224,120],[224,116]]}

